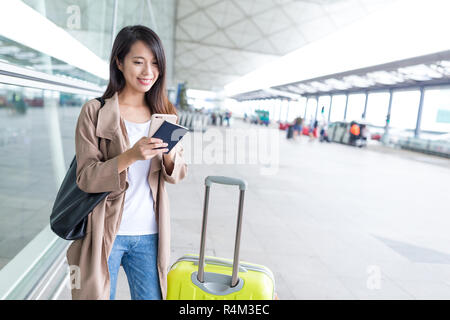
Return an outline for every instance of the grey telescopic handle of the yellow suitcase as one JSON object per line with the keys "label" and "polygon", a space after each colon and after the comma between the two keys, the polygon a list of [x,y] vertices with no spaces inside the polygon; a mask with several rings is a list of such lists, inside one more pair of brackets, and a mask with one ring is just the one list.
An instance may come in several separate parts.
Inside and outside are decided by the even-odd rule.
{"label": "grey telescopic handle of the yellow suitcase", "polygon": [[200,255],[198,261],[198,274],[197,279],[201,283],[204,282],[205,274],[205,242],[206,242],[206,226],[208,221],[208,203],[209,203],[209,190],[213,183],[235,185],[239,186],[239,211],[236,226],[236,239],[234,243],[234,257],[233,257],[233,274],[231,276],[231,287],[234,287],[238,283],[238,271],[239,271],[239,250],[241,244],[241,230],[242,230],[242,213],[244,208],[244,194],[247,189],[247,182],[242,179],[223,177],[223,176],[208,176],[205,179],[205,202],[203,204],[203,222],[202,222],[202,236],[200,241]]}

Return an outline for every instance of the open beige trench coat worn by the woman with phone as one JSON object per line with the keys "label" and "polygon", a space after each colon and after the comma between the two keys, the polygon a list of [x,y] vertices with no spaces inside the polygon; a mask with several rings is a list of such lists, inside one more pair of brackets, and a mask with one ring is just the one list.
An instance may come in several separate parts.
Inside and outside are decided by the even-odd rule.
{"label": "open beige trench coat worn by the woman with phone", "polygon": [[[75,133],[77,185],[89,193],[111,193],[89,214],[86,236],[73,241],[67,250],[74,300],[109,299],[108,257],[120,226],[128,188],[128,169],[117,172],[117,156],[131,147],[120,116],[117,92],[99,108],[100,102],[92,99],[83,105],[78,118]],[[167,174],[159,155],[152,158],[147,178],[159,229],[158,273],[163,299],[167,294],[170,267],[169,198],[164,183],[177,183],[187,174],[181,143],[175,148],[172,174]]]}

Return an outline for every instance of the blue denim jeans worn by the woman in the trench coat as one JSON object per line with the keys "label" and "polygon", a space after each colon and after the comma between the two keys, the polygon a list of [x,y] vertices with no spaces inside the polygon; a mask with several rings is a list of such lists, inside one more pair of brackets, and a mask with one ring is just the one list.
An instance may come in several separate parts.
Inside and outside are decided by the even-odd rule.
{"label": "blue denim jeans worn by the woman in the trench coat", "polygon": [[123,266],[132,300],[161,300],[157,267],[158,234],[117,235],[108,258],[110,299],[116,296],[117,275]]}

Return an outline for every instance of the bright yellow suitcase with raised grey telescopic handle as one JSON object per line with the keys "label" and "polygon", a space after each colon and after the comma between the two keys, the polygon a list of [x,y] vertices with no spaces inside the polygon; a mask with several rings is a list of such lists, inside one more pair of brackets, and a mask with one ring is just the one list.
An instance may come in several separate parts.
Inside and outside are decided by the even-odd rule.
{"label": "bright yellow suitcase with raised grey telescopic handle", "polygon": [[[209,191],[213,183],[237,185],[239,212],[233,260],[205,257]],[[241,179],[208,176],[205,179],[200,254],[179,258],[167,276],[167,300],[272,300],[275,281],[269,268],[239,262],[244,194],[247,182]]]}

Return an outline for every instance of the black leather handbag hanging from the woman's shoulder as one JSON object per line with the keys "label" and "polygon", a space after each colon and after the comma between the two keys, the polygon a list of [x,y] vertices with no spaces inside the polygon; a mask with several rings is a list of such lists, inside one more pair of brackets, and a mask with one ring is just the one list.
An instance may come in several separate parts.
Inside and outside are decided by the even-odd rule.
{"label": "black leather handbag hanging from the woman's shoulder", "polygon": [[[105,101],[100,101],[100,108]],[[59,188],[50,215],[50,227],[65,240],[81,239],[86,235],[88,215],[110,192],[86,193],[77,185],[77,159],[73,157],[69,170]]]}

